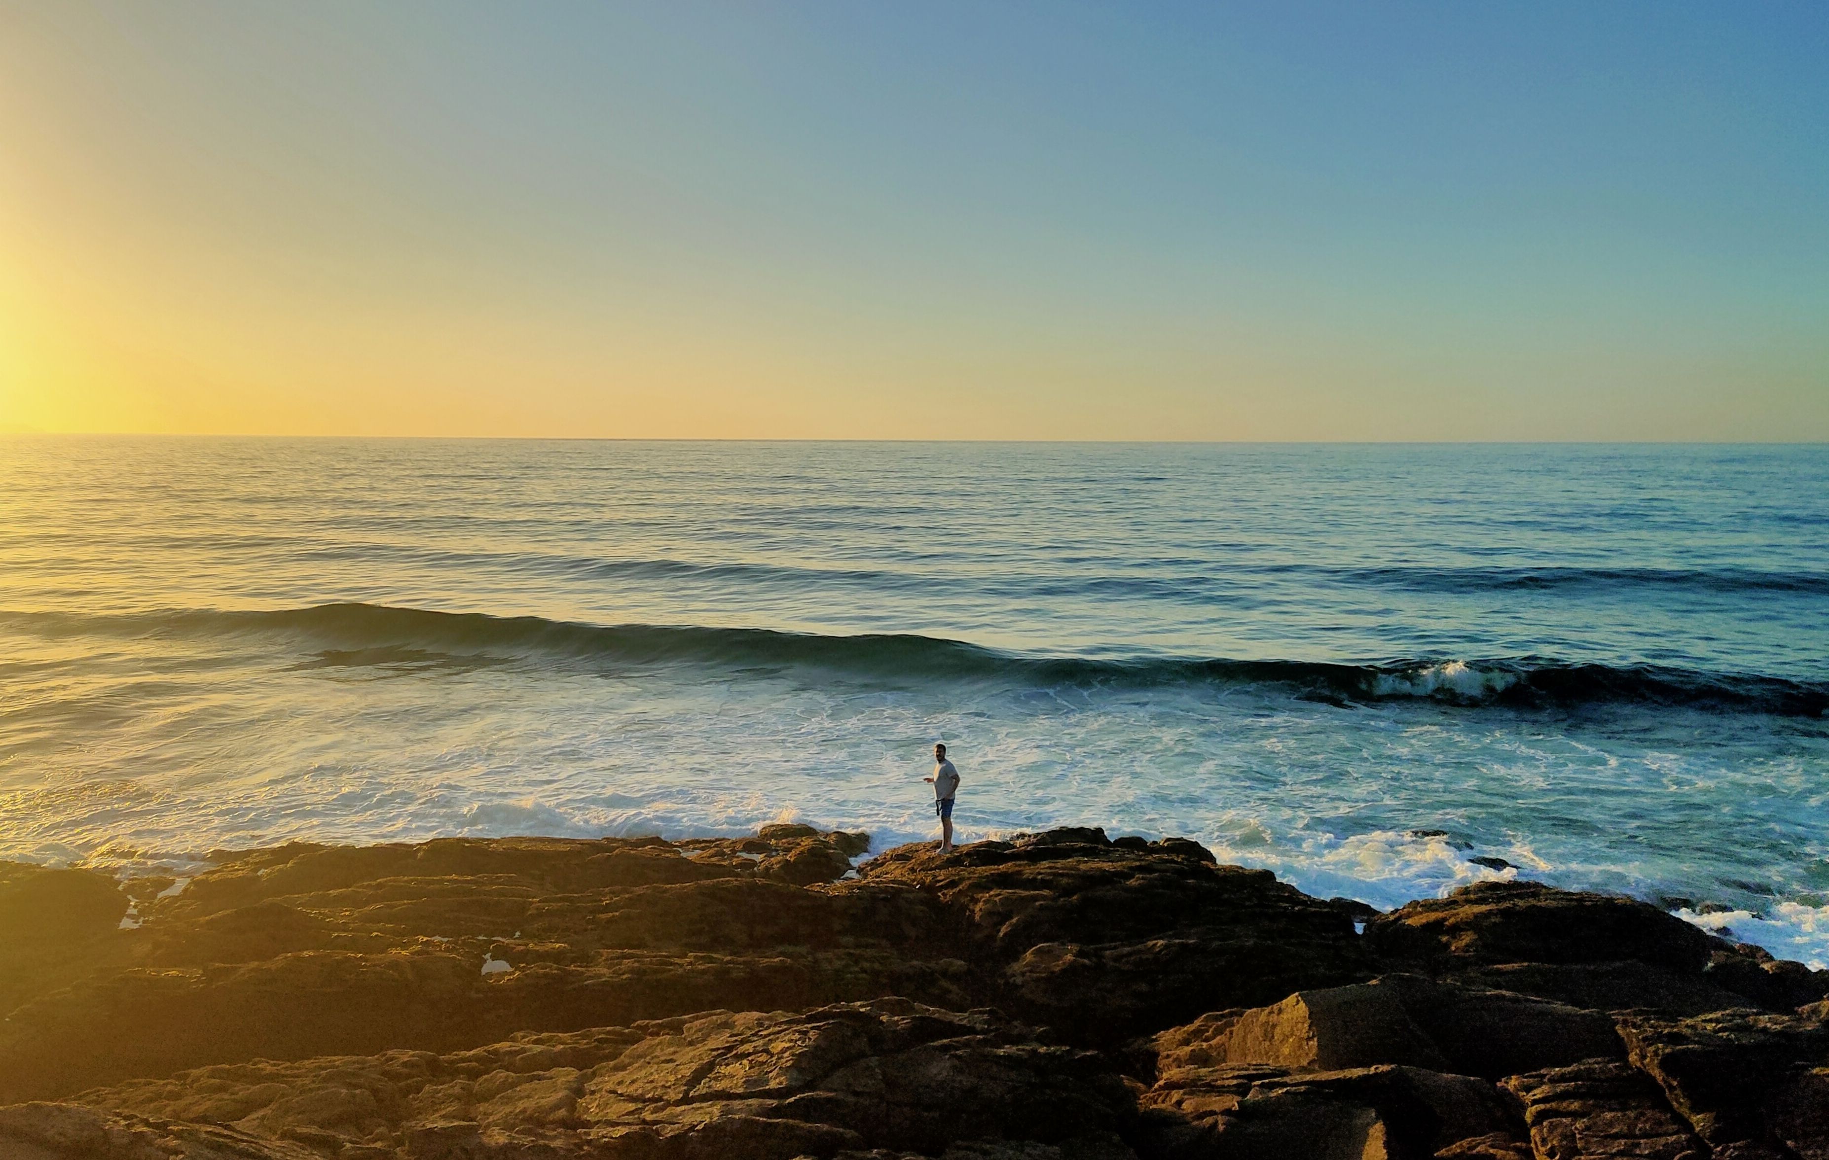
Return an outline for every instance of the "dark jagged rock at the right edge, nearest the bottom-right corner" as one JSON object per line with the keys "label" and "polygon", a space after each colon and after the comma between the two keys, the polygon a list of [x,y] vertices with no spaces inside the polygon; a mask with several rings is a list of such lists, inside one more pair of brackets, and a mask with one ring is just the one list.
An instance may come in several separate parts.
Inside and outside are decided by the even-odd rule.
{"label": "dark jagged rock at the right edge, nearest the bottom-right corner", "polygon": [[1620,1039],[1633,1067],[1663,1089],[1670,1105],[1716,1149],[1772,1145],[1767,1107],[1829,1065],[1829,1030],[1796,1016],[1728,1010],[1688,1019],[1626,1014]]}

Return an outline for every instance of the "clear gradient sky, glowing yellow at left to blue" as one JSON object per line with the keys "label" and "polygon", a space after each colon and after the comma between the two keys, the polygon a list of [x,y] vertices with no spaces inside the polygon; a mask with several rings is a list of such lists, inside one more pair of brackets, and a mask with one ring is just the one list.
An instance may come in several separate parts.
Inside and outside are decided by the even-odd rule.
{"label": "clear gradient sky, glowing yellow at left to blue", "polygon": [[1829,5],[0,0],[0,431],[1829,440]]}

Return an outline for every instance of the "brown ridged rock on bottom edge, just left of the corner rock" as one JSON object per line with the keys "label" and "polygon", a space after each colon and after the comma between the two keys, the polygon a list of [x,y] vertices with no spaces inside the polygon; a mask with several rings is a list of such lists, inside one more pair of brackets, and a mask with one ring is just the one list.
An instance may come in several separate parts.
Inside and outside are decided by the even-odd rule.
{"label": "brown ridged rock on bottom edge, just left of the corner rock", "polygon": [[1613,1060],[1507,1078],[1540,1160],[1708,1160],[1650,1076]]}

